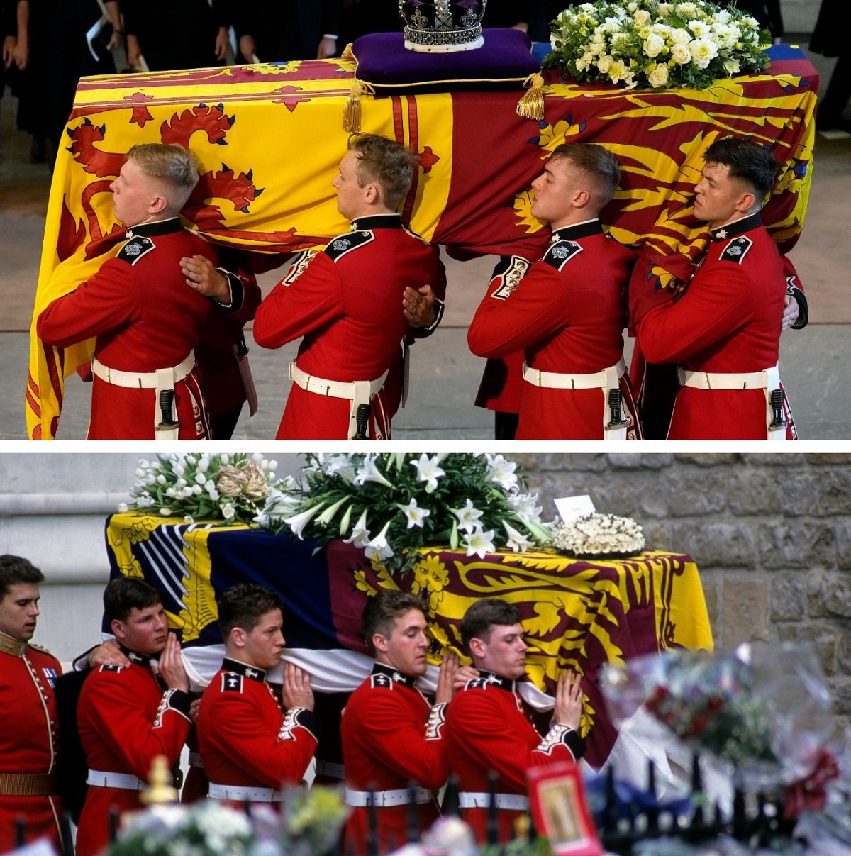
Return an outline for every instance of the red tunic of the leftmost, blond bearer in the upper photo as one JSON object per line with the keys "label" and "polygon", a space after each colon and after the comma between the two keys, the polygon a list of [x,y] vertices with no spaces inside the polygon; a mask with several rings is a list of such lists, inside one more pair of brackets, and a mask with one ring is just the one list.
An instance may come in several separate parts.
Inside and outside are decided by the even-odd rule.
{"label": "red tunic of the leftmost, blond bearer in the upper photo", "polygon": [[[199,253],[216,264],[216,248],[183,229],[177,217],[134,226],[127,238],[97,274],[39,315],[39,338],[64,348],[97,336],[95,357],[117,371],[178,366],[202,341],[217,312],[213,301],[187,286],[180,260]],[[228,278],[241,309],[240,281]],[[197,371],[176,383],[175,393],[180,439],[206,437]],[[88,438],[152,440],[158,413],[155,389],[130,389],[95,377]]]}

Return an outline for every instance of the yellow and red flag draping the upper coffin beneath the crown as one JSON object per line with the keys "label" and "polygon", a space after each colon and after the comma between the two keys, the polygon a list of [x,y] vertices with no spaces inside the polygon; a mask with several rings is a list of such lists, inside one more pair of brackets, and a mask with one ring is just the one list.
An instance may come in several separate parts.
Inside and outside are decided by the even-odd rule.
{"label": "yellow and red flag draping the upper coffin beneath the crown", "polygon": [[[516,92],[432,92],[362,98],[364,131],[412,146],[421,165],[403,207],[411,229],[465,254],[535,253],[545,230],[529,187],[562,142],[604,143],[620,158],[622,189],[604,211],[619,241],[651,250],[683,278],[705,247],[691,198],[701,156],[738,134],[771,146],[783,176],[765,222],[786,250],[803,226],[818,78],[800,52],[771,73],[697,92],[577,86],[549,73],[543,120],[516,115]],[[178,142],[204,165],[183,213],[212,241],[265,253],[258,267],[348,230],[331,180],[345,151],[347,61],[290,62],[84,78],[59,152],[45,224],[27,377],[27,436],[57,435],[64,378],[93,342],[50,348],[35,319],[98,270],[122,236],[110,182],[130,146]]]}

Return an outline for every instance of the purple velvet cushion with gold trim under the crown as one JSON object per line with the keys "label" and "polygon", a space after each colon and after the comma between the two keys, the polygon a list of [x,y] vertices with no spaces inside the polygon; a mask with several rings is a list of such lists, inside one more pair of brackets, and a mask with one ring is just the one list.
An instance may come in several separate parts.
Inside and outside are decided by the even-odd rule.
{"label": "purple velvet cushion with gold trim under the crown", "polygon": [[402,33],[371,33],[352,45],[358,63],[354,76],[375,86],[376,92],[422,92],[425,88],[520,88],[529,74],[540,70],[526,33],[484,29],[485,44],[475,51],[420,53],[408,51]]}

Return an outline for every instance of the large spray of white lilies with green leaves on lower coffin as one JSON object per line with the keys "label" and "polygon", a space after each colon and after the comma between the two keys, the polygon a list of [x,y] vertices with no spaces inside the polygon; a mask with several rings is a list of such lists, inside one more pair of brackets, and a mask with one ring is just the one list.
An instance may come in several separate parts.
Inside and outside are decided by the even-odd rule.
{"label": "large spray of white lilies with green leaves on lower coffin", "polygon": [[426,544],[480,558],[528,550],[550,532],[516,468],[502,455],[306,455],[301,487],[273,490],[258,522],[320,544],[343,538],[390,574],[413,568]]}

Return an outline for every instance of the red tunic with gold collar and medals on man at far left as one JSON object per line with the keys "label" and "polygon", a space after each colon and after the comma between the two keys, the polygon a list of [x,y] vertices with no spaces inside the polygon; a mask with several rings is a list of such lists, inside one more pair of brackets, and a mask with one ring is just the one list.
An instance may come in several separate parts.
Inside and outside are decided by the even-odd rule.
{"label": "red tunic with gold collar and medals on man at far left", "polygon": [[0,784],[0,853],[17,846],[15,821],[27,821],[26,841],[45,835],[60,850],[58,788],[48,781],[57,760],[57,704],[53,686],[62,666],[42,648],[0,633],[0,781],[3,774],[43,776],[30,780],[38,796],[15,794],[19,787]]}

